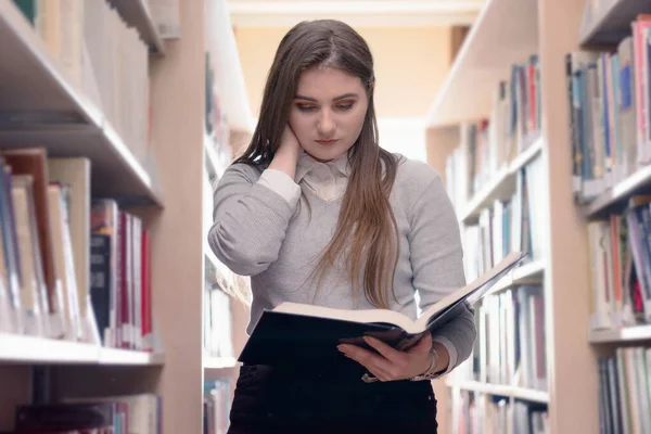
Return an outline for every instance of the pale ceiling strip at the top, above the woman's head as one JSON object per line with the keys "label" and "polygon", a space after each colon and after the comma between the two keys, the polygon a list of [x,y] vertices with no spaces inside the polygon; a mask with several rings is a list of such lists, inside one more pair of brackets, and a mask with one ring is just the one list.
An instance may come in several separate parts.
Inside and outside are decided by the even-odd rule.
{"label": "pale ceiling strip at the top, above the woman's head", "polygon": [[291,27],[335,18],[353,26],[470,25],[485,0],[228,0],[234,27]]}

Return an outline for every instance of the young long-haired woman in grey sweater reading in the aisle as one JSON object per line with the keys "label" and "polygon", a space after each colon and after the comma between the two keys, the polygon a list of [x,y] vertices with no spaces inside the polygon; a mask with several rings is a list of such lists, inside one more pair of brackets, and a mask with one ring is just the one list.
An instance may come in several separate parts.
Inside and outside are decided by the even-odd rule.
{"label": "young long-haired woman in grey sweater reading in the aisle", "polygon": [[[224,264],[251,276],[248,332],[285,301],[416,318],[417,303],[465,283],[441,178],[380,148],[374,86],[369,47],[341,22],[301,23],[280,42],[251,144],[216,189],[208,235]],[[339,347],[378,381],[326,366],[242,366],[229,433],[435,433],[429,380],[465,360],[474,339],[464,305],[408,352],[373,340],[375,350]]]}

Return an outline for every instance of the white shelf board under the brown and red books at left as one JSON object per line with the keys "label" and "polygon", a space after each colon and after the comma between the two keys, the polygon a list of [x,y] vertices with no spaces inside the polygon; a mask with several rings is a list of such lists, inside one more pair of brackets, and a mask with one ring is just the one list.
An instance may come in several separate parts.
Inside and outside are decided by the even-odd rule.
{"label": "white shelf board under the brown and red books at left", "polygon": [[163,365],[164,355],[0,333],[0,363]]}

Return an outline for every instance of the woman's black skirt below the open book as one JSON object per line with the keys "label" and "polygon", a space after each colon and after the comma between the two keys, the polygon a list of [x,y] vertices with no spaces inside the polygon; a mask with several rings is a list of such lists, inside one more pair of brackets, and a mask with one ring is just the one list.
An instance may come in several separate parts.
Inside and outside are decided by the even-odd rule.
{"label": "woman's black skirt below the open book", "polygon": [[365,383],[357,372],[244,365],[228,434],[435,434],[437,426],[429,381]]}

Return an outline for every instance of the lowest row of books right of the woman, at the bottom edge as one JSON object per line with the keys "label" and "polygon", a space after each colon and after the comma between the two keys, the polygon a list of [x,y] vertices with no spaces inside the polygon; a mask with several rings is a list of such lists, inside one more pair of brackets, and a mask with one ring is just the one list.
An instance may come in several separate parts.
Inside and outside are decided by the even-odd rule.
{"label": "lowest row of books right of the woman, at the bottom edge", "polygon": [[545,434],[549,414],[540,404],[512,400],[471,391],[452,396],[454,434]]}

